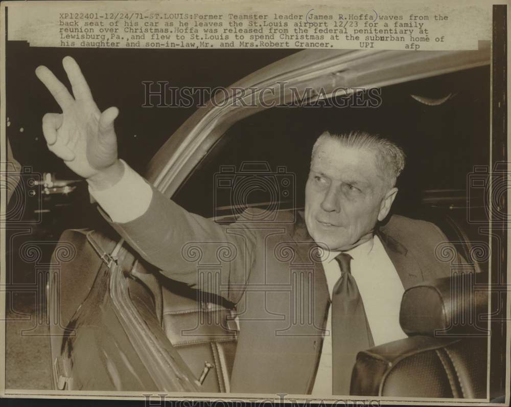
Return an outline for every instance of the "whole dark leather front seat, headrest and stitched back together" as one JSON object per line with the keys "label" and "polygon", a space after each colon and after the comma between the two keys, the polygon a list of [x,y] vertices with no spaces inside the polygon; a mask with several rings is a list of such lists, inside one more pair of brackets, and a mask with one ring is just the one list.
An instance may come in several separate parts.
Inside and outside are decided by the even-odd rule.
{"label": "whole dark leather front seat, headrest and stitched back together", "polygon": [[488,296],[476,276],[487,282],[468,273],[407,289],[400,323],[409,337],[360,352],[351,394],[486,398]]}

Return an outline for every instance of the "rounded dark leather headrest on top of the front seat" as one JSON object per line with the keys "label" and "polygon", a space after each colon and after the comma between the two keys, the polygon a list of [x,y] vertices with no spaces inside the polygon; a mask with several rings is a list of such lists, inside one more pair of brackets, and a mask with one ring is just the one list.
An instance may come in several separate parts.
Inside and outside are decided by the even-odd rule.
{"label": "rounded dark leather headrest on top of the front seat", "polygon": [[487,273],[453,273],[408,288],[401,300],[401,328],[409,336],[485,336],[487,281]]}

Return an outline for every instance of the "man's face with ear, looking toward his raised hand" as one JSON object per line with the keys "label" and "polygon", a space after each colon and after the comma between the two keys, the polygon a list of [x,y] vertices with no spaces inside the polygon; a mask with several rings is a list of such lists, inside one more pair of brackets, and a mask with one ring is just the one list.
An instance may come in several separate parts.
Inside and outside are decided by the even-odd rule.
{"label": "man's face with ear, looking toward his raised hand", "polygon": [[386,188],[375,153],[325,139],[312,157],[305,188],[305,220],[324,248],[346,251],[373,236],[387,216],[396,188]]}

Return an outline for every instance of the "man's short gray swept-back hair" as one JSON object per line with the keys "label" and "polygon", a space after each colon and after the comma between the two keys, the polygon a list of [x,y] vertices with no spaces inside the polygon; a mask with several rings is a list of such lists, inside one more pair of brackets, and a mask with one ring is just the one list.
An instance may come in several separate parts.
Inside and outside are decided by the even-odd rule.
{"label": "man's short gray swept-back hair", "polygon": [[318,146],[325,139],[338,140],[345,147],[365,148],[375,152],[376,165],[381,174],[384,174],[389,188],[396,185],[396,180],[405,168],[405,153],[401,147],[391,141],[380,137],[378,134],[371,134],[367,131],[355,130],[346,133],[323,132],[312,147],[312,159]]}

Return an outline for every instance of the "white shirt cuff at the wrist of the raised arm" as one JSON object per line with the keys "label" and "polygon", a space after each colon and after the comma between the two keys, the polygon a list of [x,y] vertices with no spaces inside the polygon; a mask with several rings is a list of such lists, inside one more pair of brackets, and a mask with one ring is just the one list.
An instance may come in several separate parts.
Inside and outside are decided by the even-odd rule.
{"label": "white shirt cuff at the wrist of the raised arm", "polygon": [[101,191],[92,190],[89,186],[89,193],[112,221],[126,223],[146,213],[153,191],[144,178],[124,160],[121,162],[124,165],[124,174],[117,184]]}

